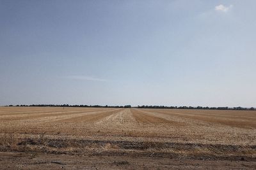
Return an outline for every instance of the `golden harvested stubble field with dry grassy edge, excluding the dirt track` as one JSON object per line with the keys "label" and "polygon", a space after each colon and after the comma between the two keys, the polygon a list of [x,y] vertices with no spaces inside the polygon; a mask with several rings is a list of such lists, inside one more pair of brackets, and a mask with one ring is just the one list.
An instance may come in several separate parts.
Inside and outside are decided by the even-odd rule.
{"label": "golden harvested stubble field with dry grassy edge, excluding the dirt track", "polygon": [[0,107],[2,152],[246,159],[256,111]]}

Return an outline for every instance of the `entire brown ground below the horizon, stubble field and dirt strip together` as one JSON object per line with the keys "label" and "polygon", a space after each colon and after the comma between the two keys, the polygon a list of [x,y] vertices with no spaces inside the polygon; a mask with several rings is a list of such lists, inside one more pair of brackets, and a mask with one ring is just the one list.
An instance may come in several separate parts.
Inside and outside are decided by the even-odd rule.
{"label": "entire brown ground below the horizon, stubble field and dirt strip together", "polygon": [[256,169],[256,111],[0,107],[0,169]]}

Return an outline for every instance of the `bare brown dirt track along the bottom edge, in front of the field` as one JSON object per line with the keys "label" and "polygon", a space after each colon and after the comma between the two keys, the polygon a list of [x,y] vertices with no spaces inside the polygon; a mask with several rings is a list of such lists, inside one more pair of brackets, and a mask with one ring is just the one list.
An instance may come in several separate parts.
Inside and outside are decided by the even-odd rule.
{"label": "bare brown dirt track along the bottom edge, in front of the field", "polygon": [[255,169],[247,161],[193,160],[127,155],[77,156],[0,152],[1,169]]}

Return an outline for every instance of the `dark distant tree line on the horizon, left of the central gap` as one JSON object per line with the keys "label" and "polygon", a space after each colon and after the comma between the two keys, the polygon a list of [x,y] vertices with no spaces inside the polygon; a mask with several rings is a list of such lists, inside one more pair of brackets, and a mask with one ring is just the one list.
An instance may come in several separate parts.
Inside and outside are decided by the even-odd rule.
{"label": "dark distant tree line on the horizon, left of the central gap", "polygon": [[[13,105],[8,105],[8,106],[13,106]],[[84,105],[84,104],[18,104],[15,105],[17,107],[76,107],[76,108],[131,108],[131,105],[125,105],[125,106],[100,106],[100,105]]]}

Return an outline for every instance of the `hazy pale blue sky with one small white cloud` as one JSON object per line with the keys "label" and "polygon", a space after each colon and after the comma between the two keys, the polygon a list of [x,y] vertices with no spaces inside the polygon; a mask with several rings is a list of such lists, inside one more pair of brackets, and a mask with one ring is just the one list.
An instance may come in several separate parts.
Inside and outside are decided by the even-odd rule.
{"label": "hazy pale blue sky with one small white cloud", "polygon": [[256,107],[255,6],[0,0],[0,105]]}

